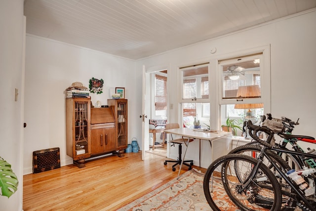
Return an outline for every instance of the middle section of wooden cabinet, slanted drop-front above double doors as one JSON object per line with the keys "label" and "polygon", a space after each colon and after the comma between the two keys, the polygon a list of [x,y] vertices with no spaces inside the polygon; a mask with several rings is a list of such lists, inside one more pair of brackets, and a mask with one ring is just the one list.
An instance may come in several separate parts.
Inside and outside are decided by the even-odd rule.
{"label": "middle section of wooden cabinet, slanted drop-front above double doors", "polygon": [[91,108],[91,156],[115,152],[115,129],[111,108]]}

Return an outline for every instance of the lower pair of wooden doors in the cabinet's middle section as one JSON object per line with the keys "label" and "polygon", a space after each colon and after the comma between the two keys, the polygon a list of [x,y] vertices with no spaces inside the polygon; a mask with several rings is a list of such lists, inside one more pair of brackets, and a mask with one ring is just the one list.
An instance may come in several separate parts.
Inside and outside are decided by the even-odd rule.
{"label": "lower pair of wooden doors in the cabinet's middle section", "polygon": [[115,127],[91,129],[91,154],[115,150]]}

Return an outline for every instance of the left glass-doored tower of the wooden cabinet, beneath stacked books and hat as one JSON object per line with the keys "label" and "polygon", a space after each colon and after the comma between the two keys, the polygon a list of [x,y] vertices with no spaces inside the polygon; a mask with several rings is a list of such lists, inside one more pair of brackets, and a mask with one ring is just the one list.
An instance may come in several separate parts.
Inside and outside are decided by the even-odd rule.
{"label": "left glass-doored tower of the wooden cabinet, beneath stacked books and hat", "polygon": [[90,99],[66,99],[66,146],[67,155],[74,164],[84,167],[84,159],[91,155],[90,145]]}

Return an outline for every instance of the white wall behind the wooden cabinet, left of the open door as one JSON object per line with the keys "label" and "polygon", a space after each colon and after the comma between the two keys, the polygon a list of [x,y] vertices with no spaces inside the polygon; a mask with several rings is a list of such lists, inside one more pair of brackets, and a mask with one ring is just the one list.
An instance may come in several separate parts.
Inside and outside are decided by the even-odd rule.
{"label": "white wall behind the wooden cabinet, left of the open door", "polygon": [[[32,153],[60,148],[61,166],[72,164],[66,155],[65,89],[73,82],[89,87],[89,79],[103,79],[103,93],[90,93],[107,105],[110,88],[125,87],[128,99],[128,141],[135,134],[135,61],[32,35],[26,37],[24,174],[32,173]],[[115,89],[114,89],[115,90]],[[137,116],[137,115],[136,115]],[[139,116],[139,114],[138,114]],[[140,122],[140,121],[139,121]]]}

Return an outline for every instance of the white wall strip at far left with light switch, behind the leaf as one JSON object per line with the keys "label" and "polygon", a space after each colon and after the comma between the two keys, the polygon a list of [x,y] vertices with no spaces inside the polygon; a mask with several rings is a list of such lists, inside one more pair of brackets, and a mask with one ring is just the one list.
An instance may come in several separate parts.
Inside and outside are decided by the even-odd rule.
{"label": "white wall strip at far left with light switch, behind the leaf", "polygon": [[[0,196],[1,211],[21,211],[23,204],[23,0],[0,1],[0,157],[19,180],[9,199]],[[14,101],[18,88],[18,101]]]}

